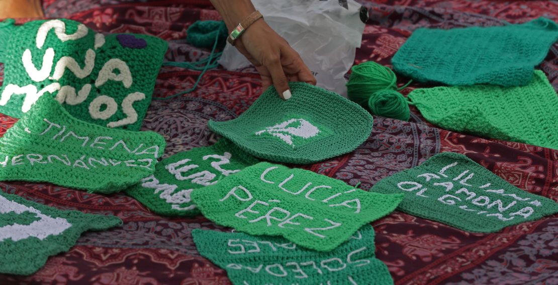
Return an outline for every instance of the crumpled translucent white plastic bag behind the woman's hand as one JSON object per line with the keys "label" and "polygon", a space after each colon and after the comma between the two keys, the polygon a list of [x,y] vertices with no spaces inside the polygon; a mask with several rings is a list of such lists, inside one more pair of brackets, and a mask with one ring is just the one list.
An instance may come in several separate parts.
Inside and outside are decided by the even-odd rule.
{"label": "crumpled translucent white plastic bag behind the woman's hand", "polygon": [[[364,23],[354,0],[252,0],[265,21],[290,43],[318,86],[347,96],[345,73],[360,47]],[[250,62],[227,43],[219,63],[236,70]]]}

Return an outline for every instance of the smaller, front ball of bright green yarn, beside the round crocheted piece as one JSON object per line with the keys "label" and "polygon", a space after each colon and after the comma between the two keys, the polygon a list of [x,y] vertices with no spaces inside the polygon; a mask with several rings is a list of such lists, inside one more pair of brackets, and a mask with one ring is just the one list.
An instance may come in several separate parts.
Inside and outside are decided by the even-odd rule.
{"label": "smaller, front ball of bright green yarn, beside the round crocheted piece", "polygon": [[411,110],[400,92],[392,89],[376,91],[368,99],[368,108],[374,115],[408,121]]}

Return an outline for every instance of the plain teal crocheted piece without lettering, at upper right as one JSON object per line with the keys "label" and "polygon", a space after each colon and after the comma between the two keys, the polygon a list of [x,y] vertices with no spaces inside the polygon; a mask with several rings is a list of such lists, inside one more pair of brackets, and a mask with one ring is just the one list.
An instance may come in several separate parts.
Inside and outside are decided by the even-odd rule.
{"label": "plain teal crocheted piece without lettering, at upper right", "polygon": [[420,28],[392,58],[393,68],[422,82],[523,86],[558,39],[558,24],[538,18],[501,27]]}

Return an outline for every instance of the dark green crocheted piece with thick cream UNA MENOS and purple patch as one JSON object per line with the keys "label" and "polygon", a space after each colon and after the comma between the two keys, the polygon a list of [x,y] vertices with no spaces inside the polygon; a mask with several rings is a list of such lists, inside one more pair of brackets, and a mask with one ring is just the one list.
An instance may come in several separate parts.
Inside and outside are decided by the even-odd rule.
{"label": "dark green crocheted piece with thick cream UNA MENOS and purple patch", "polygon": [[[83,121],[140,130],[167,43],[137,34],[95,33],[69,19],[13,26],[4,50],[0,112],[20,118],[44,94]],[[0,52],[1,53],[1,52]]]}

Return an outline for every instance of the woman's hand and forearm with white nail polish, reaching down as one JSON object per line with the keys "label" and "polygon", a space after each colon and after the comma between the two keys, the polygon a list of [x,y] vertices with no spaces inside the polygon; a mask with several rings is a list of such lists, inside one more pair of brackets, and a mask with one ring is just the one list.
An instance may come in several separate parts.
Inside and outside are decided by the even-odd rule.
{"label": "woman's hand and forearm with white nail polish, reaching down", "polygon": [[[211,3],[223,17],[229,31],[256,11],[250,0],[211,0]],[[300,55],[263,19],[246,27],[236,40],[235,47],[256,67],[262,77],[263,88],[273,84],[277,93],[285,100],[291,97],[289,81],[316,84],[316,78]]]}

